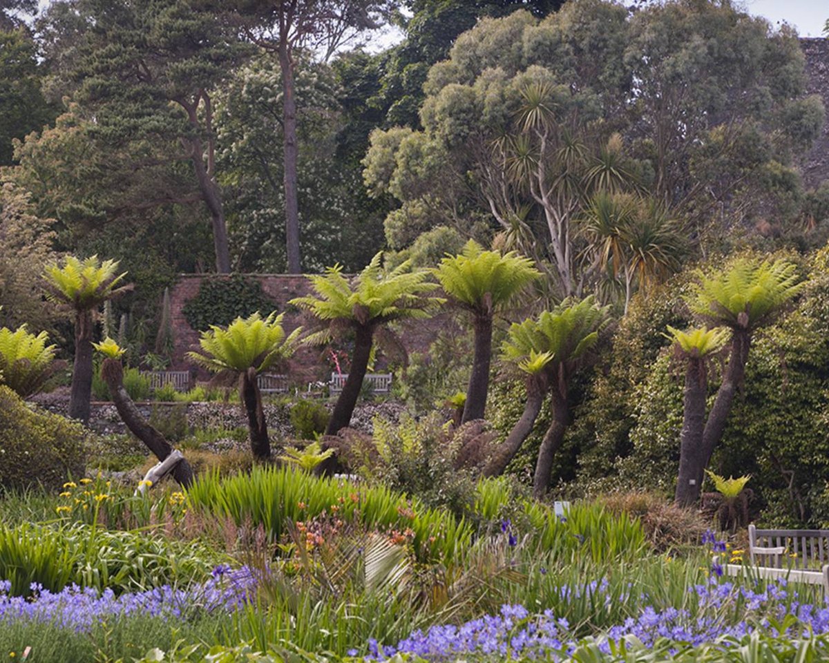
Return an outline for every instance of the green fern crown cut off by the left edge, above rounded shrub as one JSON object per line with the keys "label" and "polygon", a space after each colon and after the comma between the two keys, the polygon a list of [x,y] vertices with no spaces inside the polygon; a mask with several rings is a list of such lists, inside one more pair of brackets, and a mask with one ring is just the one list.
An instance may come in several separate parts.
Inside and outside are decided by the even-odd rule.
{"label": "green fern crown cut off by the left edge, above rounded shrub", "polygon": [[26,398],[40,391],[52,373],[55,346],[47,346],[49,336],[37,336],[26,325],[16,331],[0,328],[0,384]]}

